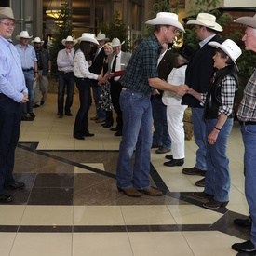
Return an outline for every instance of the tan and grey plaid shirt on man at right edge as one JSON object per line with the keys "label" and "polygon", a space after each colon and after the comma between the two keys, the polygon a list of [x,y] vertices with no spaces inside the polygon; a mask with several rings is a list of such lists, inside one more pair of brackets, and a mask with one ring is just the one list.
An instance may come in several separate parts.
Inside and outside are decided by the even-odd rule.
{"label": "tan and grey plaid shirt on man at right edge", "polygon": [[237,118],[242,122],[256,122],[256,69],[244,89],[244,97],[238,107]]}

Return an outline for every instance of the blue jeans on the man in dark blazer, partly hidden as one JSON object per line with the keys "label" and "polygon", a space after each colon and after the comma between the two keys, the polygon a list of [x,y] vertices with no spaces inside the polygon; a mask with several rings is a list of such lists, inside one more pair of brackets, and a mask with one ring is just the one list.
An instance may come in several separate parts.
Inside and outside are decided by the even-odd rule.
{"label": "blue jeans on the man in dark blazer, partly hidden", "polygon": [[203,108],[191,108],[192,121],[194,128],[195,143],[198,146],[196,151],[195,167],[201,170],[207,170],[207,135],[206,125],[203,120],[204,109]]}

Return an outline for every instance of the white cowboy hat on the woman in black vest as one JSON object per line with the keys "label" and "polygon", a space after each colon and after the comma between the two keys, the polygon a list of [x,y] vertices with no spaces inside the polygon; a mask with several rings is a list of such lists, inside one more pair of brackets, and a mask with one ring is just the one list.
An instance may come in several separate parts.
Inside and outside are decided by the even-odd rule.
{"label": "white cowboy hat on the woman in black vest", "polygon": [[[226,39],[222,44],[217,42],[209,42],[209,46],[222,49],[222,51],[229,56],[235,65],[236,59],[242,54],[240,47],[238,47],[231,39]],[[237,65],[236,68],[238,70]]]}

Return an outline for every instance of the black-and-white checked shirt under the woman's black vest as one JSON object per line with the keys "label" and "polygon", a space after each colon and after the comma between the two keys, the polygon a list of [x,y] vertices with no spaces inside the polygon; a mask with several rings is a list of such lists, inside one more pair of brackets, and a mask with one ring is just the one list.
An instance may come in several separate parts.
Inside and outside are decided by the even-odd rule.
{"label": "black-and-white checked shirt under the woman's black vest", "polygon": [[[232,114],[236,90],[237,90],[237,83],[236,83],[235,77],[233,75],[227,74],[222,79],[222,91],[221,91],[222,105],[219,107],[219,115],[224,114],[229,116]],[[202,106],[205,105],[206,99],[207,99],[207,93],[202,93],[202,98],[200,102]]]}

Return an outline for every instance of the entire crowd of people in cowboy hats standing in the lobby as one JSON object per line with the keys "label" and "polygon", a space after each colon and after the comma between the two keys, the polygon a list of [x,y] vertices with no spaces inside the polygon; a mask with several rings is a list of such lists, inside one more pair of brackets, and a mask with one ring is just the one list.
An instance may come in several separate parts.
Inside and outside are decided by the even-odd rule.
{"label": "entire crowd of people in cowboy hats standing in the lobby", "polygon": [[[13,45],[15,22],[9,7],[0,8],[0,201],[11,202],[13,195],[6,189],[23,189],[25,183],[13,178],[15,148],[19,141],[20,122],[35,117],[33,107],[47,101],[47,77],[51,62],[43,41],[20,32]],[[256,15],[235,20],[246,26],[242,41],[246,50],[256,52]],[[182,116],[192,109],[195,143],[198,146],[195,167],[183,168],[186,175],[204,178],[195,184],[204,187],[195,198],[205,199],[203,207],[219,209],[229,202],[230,170],[226,154],[227,141],[233,127],[233,106],[238,90],[236,60],[240,47],[217,33],[222,26],[209,13],[199,13],[193,25],[199,46],[195,52],[183,46],[173,53],[168,47],[178,34],[185,33],[178,15],[159,12],[146,22],[154,33],[141,40],[133,54],[123,52],[118,38],[110,42],[105,34],[83,33],[74,40],[71,35],[62,40],[65,48],[57,57],[59,70],[57,115],[72,116],[74,85],[79,92],[80,107],[75,116],[73,136],[77,140],[93,136],[88,130],[91,91],[96,106],[96,123],[104,128],[114,124],[115,136],[122,136],[116,165],[117,189],[131,197],[142,194],[161,196],[163,192],[151,186],[151,149],[166,155],[168,167],[184,164],[184,130]],[[74,50],[74,45],[79,47]],[[92,48],[97,50],[92,53]],[[67,97],[64,101],[65,88]],[[245,145],[245,191],[249,218],[236,219],[240,227],[251,228],[251,238],[232,246],[239,252],[256,253],[256,172],[254,169],[256,128],[256,71],[249,78],[239,105],[237,118]],[[39,91],[42,93],[40,97]],[[155,131],[152,134],[152,121]],[[133,160],[133,154],[135,158]]]}

